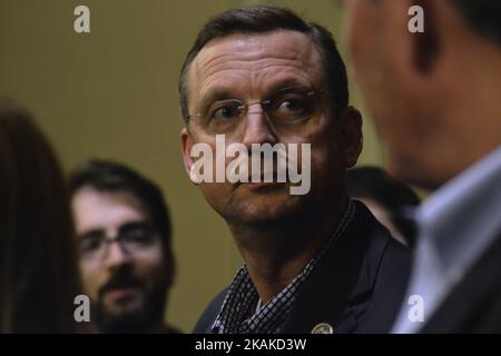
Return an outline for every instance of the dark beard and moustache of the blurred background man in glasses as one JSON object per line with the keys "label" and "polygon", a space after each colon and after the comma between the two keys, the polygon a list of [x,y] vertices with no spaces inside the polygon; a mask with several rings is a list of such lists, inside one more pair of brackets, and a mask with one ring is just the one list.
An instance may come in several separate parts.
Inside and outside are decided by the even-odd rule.
{"label": "dark beard and moustache of the blurred background man in glasses", "polygon": [[[107,306],[104,295],[112,289],[134,287],[141,290],[134,307],[127,305]],[[157,283],[150,290],[143,279],[132,275],[130,268],[118,270],[100,289],[96,300],[96,326],[102,334],[141,334],[153,332],[161,325],[166,305],[167,285]],[[130,303],[129,303],[130,304]]]}

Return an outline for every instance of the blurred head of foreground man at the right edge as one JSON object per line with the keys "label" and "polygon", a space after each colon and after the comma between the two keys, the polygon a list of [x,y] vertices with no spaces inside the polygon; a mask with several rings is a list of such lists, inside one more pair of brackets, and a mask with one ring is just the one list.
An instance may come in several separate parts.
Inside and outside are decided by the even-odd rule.
{"label": "blurred head of foreground man at the right edge", "polygon": [[[436,188],[501,141],[501,2],[347,0],[355,78],[390,169]],[[424,32],[412,32],[412,6]]]}

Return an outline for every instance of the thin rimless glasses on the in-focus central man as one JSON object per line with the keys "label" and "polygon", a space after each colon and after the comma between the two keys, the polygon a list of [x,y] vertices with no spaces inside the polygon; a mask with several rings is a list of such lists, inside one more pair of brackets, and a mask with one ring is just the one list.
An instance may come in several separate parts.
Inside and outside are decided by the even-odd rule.
{"label": "thin rimless glasses on the in-focus central man", "polygon": [[233,134],[242,126],[248,108],[261,105],[264,115],[273,128],[281,132],[302,129],[305,122],[321,108],[321,98],[325,90],[311,90],[301,87],[287,87],[277,90],[268,99],[245,103],[239,99],[216,100],[199,113],[186,119],[193,120],[207,134]]}

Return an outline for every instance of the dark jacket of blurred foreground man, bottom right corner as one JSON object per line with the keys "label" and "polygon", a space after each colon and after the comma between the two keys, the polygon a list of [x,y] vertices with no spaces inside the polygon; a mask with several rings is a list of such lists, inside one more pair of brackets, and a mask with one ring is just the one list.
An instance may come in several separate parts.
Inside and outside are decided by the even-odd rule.
{"label": "dark jacket of blurred foreground man, bottom right corner", "polygon": [[501,333],[501,234],[421,333]]}

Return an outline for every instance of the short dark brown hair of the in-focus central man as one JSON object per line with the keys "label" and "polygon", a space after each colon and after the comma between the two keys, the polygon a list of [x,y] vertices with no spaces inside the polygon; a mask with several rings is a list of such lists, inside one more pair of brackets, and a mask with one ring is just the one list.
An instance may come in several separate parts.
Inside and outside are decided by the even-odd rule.
{"label": "short dark brown hair of the in-focus central man", "polygon": [[305,22],[288,9],[273,6],[254,6],[219,13],[198,32],[197,39],[183,63],[179,77],[178,90],[183,118],[186,120],[189,116],[187,75],[190,65],[198,52],[210,40],[235,33],[261,34],[277,30],[297,31],[306,34],[312,40],[322,57],[327,89],[334,99],[336,112],[344,110],[348,102],[346,68],[337,51],[332,33],[317,23]]}

